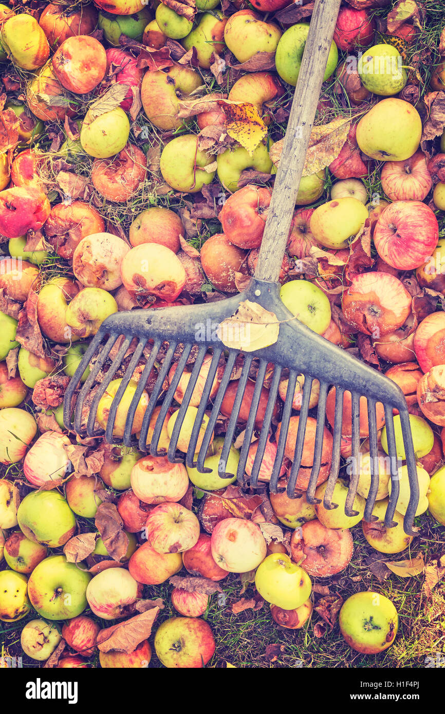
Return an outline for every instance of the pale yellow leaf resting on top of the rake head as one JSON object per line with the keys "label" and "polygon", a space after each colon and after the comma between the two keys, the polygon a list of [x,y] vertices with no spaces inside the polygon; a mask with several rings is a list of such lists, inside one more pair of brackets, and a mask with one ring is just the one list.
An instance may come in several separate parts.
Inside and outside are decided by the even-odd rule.
{"label": "pale yellow leaf resting on top of the rake head", "polygon": [[276,343],[279,319],[258,303],[245,300],[234,315],[219,324],[217,333],[226,347],[254,352]]}

